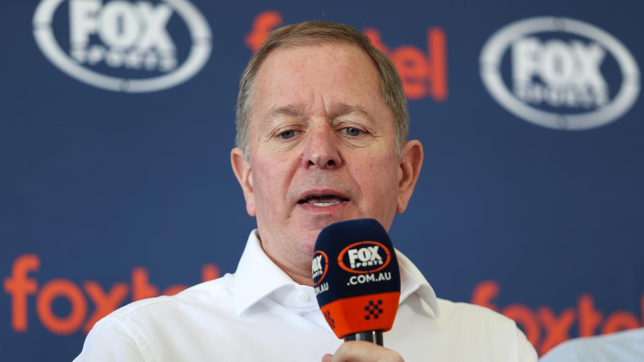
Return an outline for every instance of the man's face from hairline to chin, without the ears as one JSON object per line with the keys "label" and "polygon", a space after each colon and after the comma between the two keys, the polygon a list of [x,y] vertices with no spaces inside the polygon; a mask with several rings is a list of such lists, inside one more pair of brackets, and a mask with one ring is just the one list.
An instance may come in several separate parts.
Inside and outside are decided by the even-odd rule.
{"label": "man's face from hairline to chin, without the ears", "polygon": [[403,171],[366,53],[345,43],[274,51],[252,97],[244,191],[271,258],[310,265],[319,231],[341,220],[375,218],[389,229]]}

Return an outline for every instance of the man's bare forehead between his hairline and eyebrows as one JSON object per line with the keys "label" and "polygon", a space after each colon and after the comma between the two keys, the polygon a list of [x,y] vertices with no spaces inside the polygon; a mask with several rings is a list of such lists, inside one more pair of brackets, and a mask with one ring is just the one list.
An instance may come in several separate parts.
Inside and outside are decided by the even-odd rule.
{"label": "man's bare forehead between his hairline and eyebrows", "polygon": [[371,57],[345,42],[294,46],[271,52],[253,84],[255,115],[289,104],[311,109],[337,104],[377,111],[384,105]]}

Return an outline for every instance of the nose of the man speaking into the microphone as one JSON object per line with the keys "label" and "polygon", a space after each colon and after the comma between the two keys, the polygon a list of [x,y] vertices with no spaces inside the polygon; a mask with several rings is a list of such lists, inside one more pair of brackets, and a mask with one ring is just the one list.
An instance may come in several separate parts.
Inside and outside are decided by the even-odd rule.
{"label": "nose of the man speaking into the microphone", "polygon": [[336,130],[328,122],[325,123],[308,131],[302,166],[320,169],[335,169],[341,166]]}

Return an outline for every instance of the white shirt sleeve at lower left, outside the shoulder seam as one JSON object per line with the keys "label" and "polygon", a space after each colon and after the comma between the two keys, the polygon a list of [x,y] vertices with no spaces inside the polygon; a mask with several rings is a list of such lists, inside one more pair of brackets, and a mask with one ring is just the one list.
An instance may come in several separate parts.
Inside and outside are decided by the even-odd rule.
{"label": "white shirt sleeve at lower left, outside the shoulder seam", "polygon": [[102,319],[90,330],[73,362],[141,361],[154,358],[136,326],[125,319]]}

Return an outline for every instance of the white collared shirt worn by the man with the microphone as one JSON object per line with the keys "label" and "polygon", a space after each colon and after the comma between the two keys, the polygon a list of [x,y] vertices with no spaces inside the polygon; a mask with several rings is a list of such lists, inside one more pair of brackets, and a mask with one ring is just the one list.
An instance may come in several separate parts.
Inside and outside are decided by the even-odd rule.
{"label": "white collared shirt worn by the man with the microphone", "polygon": [[[396,254],[401,303],[385,347],[407,362],[536,361],[512,319],[437,299],[415,265]],[[74,361],[317,362],[342,342],[313,288],[279,269],[252,231],[234,274],[115,310],[96,323]]]}

